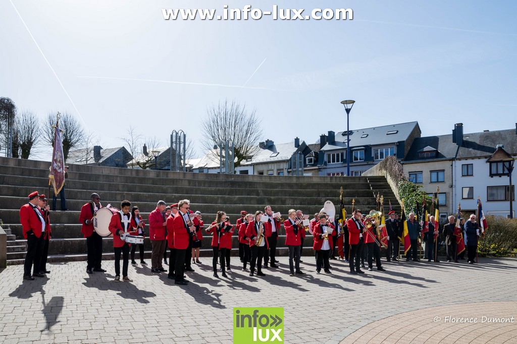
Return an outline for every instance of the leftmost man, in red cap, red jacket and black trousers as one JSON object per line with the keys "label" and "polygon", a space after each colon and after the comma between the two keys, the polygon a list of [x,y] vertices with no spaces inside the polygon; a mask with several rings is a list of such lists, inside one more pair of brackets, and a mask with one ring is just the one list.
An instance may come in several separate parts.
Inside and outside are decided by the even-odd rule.
{"label": "leftmost man, in red cap, red jacket and black trousers", "polygon": [[[29,194],[28,198],[29,202],[20,208],[20,223],[23,227],[23,237],[27,239],[27,254],[25,255],[25,263],[23,265],[23,279],[32,281],[34,280],[33,276],[45,276],[39,272],[41,254],[45,245],[45,220],[38,208],[38,191]],[[31,276],[31,270],[34,271],[33,276]]]}

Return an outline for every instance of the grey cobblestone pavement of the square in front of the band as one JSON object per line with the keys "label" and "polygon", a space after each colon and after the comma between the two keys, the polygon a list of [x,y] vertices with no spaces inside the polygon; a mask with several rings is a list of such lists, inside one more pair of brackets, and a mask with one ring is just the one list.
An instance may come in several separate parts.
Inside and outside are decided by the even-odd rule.
{"label": "grey cobblestone pavement of the square in front of the band", "polygon": [[233,307],[254,306],[284,307],[286,343],[516,342],[517,320],[480,321],[517,318],[517,259],[383,261],[386,272],[363,275],[337,260],[333,274],[316,275],[314,258],[302,259],[305,276],[290,277],[280,257],[279,269],[257,278],[232,257],[229,278],[218,280],[204,257],[187,273],[188,286],[150,265],[130,265],[134,282],[115,283],[112,260],[93,275],[84,262],[50,264],[48,277],[35,281],[22,280],[23,266],[9,266],[0,270],[0,342],[231,343]]}

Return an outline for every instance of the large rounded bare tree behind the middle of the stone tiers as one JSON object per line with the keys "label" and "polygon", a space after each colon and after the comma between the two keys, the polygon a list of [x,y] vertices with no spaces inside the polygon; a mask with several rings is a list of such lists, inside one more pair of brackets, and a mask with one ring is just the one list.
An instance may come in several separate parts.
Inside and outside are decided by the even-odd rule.
{"label": "large rounded bare tree behind the middle of the stone tiers", "polygon": [[238,167],[242,160],[251,157],[258,150],[258,142],[263,136],[259,124],[255,110],[248,112],[246,106],[225,100],[224,103],[207,109],[207,116],[201,124],[205,133],[203,147],[219,157],[214,145],[232,140],[235,147],[235,167]]}

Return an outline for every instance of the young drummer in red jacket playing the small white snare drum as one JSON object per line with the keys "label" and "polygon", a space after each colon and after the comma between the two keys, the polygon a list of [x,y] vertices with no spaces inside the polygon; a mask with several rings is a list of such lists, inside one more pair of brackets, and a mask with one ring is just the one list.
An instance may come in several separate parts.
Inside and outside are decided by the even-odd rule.
{"label": "young drummer in red jacket playing the small white snare drum", "polygon": [[[134,235],[138,233],[136,227],[131,226],[131,214],[129,209],[131,202],[124,200],[120,203],[120,211],[112,215],[109,230],[113,234],[113,249],[115,251],[115,282],[120,282],[120,253],[122,253],[122,280],[133,282],[128,277],[129,251],[131,244],[127,243],[120,236],[123,234]],[[125,238],[124,238],[125,239]]]}

